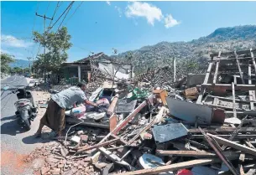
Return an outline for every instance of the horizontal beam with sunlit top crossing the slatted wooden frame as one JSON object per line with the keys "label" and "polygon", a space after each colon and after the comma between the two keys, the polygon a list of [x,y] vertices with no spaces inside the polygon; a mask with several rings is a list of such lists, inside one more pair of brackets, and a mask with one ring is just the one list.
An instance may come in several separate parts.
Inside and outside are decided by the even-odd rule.
{"label": "horizontal beam with sunlit top crossing the slatted wooden frame", "polygon": [[[231,84],[201,84],[202,87],[205,87],[206,89],[211,89],[213,87],[219,88],[222,90],[232,90],[232,85]],[[236,85],[236,90],[256,90],[256,85]]]}

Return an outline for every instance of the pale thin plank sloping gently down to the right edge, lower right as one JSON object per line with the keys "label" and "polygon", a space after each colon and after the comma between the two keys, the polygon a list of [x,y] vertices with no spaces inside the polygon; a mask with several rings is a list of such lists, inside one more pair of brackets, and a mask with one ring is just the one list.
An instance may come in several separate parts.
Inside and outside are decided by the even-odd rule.
{"label": "pale thin plank sloping gently down to the right edge, lower right", "polygon": [[229,140],[227,140],[225,138],[222,138],[222,137],[219,137],[219,136],[214,136],[210,133],[207,133],[207,135],[213,137],[217,142],[220,142],[223,145],[227,145],[228,147],[232,147],[232,148],[238,149],[242,152],[245,152],[245,153],[251,154],[253,156],[256,156],[256,149],[243,146],[241,144],[229,141]]}

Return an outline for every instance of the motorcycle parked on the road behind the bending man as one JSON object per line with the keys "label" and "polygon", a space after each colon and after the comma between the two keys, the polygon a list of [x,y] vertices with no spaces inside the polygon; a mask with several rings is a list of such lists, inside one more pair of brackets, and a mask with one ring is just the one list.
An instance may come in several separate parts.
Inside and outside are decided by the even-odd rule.
{"label": "motorcycle parked on the road behind the bending man", "polygon": [[13,94],[17,93],[18,100],[14,103],[17,111],[18,124],[24,126],[27,131],[31,129],[31,121],[37,116],[37,109],[34,106],[34,100],[29,90],[25,87],[13,90]]}

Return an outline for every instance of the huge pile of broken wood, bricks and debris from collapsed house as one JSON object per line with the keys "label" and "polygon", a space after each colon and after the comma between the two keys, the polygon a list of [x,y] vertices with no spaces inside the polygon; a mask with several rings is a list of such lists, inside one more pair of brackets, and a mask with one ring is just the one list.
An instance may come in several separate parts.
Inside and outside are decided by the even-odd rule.
{"label": "huge pile of broken wood, bricks and debris from collapsed house", "polygon": [[44,158],[41,174],[255,174],[255,54],[211,54],[199,80],[102,80],[90,99],[109,104],[66,111],[66,136],[27,161]]}

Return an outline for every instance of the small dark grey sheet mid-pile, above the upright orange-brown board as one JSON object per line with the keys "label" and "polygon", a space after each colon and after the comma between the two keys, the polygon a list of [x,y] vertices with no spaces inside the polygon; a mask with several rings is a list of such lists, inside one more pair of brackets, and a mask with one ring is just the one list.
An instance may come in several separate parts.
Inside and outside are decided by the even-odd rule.
{"label": "small dark grey sheet mid-pile, above the upright orange-brown board", "polygon": [[132,100],[128,103],[127,100],[119,99],[116,113],[131,113],[134,111],[136,104],[137,100]]}

